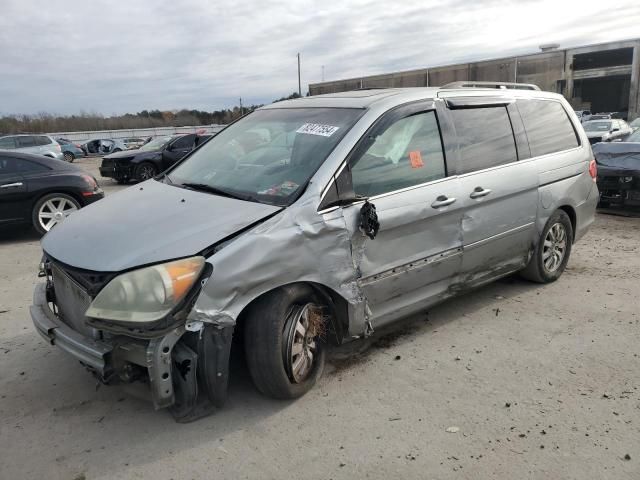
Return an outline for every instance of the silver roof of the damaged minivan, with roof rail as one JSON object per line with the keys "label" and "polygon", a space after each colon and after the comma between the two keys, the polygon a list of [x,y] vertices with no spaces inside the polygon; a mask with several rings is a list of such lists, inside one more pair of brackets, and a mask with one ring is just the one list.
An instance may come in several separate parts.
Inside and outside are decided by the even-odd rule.
{"label": "silver roof of the damaged minivan, with roof rail", "polygon": [[378,104],[380,104],[380,106],[385,104],[387,107],[392,107],[420,99],[435,99],[438,98],[441,93],[448,96],[487,96],[494,98],[561,98],[561,95],[557,93],[511,88],[372,88],[285,100],[266,105],[260,110],[313,107],[367,109],[374,105],[377,106]]}

